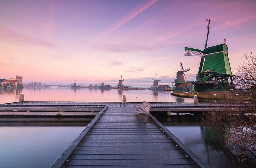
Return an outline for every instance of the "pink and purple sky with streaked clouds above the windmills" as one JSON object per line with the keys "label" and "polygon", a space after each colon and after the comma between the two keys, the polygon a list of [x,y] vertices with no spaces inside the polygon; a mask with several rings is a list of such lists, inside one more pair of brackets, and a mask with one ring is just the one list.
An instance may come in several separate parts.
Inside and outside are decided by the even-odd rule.
{"label": "pink and purple sky with streaked clouds above the windmills", "polygon": [[196,78],[208,47],[226,38],[232,69],[256,50],[256,1],[1,1],[0,78],[24,82],[171,84],[181,61]]}

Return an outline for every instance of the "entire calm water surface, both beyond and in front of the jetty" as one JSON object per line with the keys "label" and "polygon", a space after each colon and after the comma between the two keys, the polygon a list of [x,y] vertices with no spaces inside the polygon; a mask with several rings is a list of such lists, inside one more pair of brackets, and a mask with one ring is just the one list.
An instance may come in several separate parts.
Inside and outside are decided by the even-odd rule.
{"label": "entire calm water surface, both beyond and in front of the jetty", "polygon": [[[28,87],[0,89],[0,103],[18,101],[20,93],[24,93],[25,101],[122,101],[125,94],[130,102],[193,102],[192,98],[171,96],[169,91]],[[156,118],[209,166],[253,167],[238,161],[213,138],[215,132],[204,126],[198,116]],[[15,122],[0,120],[0,167],[50,166],[91,119],[72,119],[74,123],[65,118],[58,122],[39,122],[31,118],[18,119],[22,122],[17,118],[8,120]]]}

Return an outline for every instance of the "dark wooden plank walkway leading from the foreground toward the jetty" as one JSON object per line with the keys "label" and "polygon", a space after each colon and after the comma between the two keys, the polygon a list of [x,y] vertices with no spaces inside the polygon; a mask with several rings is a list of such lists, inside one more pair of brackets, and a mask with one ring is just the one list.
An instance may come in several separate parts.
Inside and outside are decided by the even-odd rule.
{"label": "dark wooden plank walkway leading from the foreground toward the jetty", "polygon": [[93,120],[51,167],[207,167],[133,107],[108,107]]}

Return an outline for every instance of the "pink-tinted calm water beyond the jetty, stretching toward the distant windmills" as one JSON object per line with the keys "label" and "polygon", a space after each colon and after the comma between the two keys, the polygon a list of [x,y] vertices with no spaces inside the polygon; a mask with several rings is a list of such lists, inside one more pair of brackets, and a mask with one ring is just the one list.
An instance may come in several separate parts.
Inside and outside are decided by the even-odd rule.
{"label": "pink-tinted calm water beyond the jetty, stretching toward the distant windmills", "polygon": [[23,89],[0,89],[0,103],[19,100],[20,93],[24,93],[25,101],[122,101],[126,95],[128,102],[193,102],[191,98],[180,98],[170,95],[170,91],[152,90],[100,90],[73,89],[54,87],[28,87]]}

